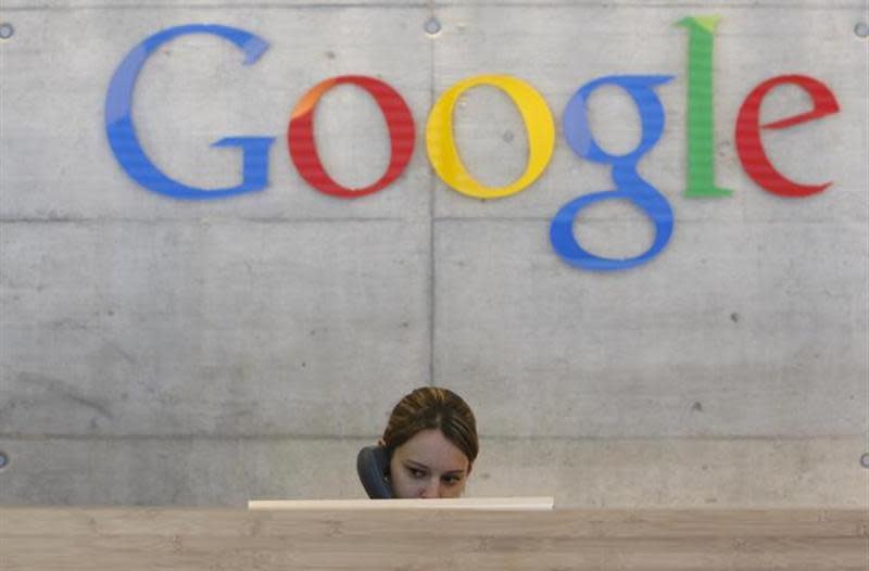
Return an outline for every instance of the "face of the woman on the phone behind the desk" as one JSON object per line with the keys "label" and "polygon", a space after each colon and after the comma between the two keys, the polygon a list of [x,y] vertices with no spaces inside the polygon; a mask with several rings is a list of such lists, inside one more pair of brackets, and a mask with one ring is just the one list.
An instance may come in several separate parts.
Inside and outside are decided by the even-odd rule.
{"label": "face of the woman on the phone behind the desk", "polygon": [[398,498],[461,497],[470,462],[440,430],[429,429],[395,448],[389,474]]}

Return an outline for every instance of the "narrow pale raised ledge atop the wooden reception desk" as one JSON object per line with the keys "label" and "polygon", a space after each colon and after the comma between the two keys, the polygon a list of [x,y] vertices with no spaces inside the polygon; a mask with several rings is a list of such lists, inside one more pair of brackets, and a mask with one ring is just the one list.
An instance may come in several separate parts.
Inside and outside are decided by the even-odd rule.
{"label": "narrow pale raised ledge atop the wooden reception desk", "polygon": [[546,511],[555,505],[551,496],[540,497],[474,497],[474,498],[431,498],[431,499],[251,499],[248,509],[253,510],[405,510],[405,509],[449,509],[488,511]]}

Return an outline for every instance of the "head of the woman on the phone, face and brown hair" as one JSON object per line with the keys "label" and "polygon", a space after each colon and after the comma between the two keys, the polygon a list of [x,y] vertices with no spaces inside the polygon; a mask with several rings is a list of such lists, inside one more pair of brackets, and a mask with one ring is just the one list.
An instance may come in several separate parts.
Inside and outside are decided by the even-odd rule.
{"label": "head of the woman on the phone, face and brown hair", "polygon": [[479,452],[470,407],[436,386],[405,395],[378,444],[390,459],[387,480],[398,498],[462,496]]}

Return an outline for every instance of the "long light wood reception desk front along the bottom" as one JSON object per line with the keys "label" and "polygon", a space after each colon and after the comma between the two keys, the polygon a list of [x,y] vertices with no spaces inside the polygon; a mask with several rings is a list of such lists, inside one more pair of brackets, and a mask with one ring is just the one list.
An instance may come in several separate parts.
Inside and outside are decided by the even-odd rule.
{"label": "long light wood reception desk front along the bottom", "polygon": [[0,508],[0,569],[869,569],[869,512]]}

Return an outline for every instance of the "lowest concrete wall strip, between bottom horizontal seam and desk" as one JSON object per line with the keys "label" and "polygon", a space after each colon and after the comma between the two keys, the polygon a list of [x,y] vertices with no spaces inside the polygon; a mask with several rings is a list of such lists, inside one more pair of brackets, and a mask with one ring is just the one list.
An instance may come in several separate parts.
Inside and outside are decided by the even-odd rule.
{"label": "lowest concrete wall strip, between bottom horizontal seam and desk", "polygon": [[[2,439],[3,505],[243,507],[357,499],[365,439]],[[554,495],[556,508],[866,505],[855,439],[483,439],[467,495]],[[111,468],[109,468],[111,467]],[[835,467],[835,468],[831,468]],[[10,467],[12,470],[12,467]],[[106,473],[111,471],[111,474]],[[8,477],[10,474],[4,474]]]}

